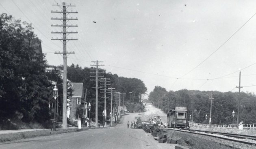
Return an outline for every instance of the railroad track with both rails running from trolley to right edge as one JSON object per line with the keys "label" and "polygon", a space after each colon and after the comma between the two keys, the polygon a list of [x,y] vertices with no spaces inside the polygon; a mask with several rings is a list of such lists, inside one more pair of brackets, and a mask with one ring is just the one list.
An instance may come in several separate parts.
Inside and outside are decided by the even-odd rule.
{"label": "railroad track with both rails running from trolley to right edge", "polygon": [[[247,141],[242,141],[242,140],[237,140],[237,139],[232,139],[232,138],[227,138],[227,137],[223,137],[223,136],[215,136],[213,134],[221,134],[222,132],[207,132],[207,131],[202,131],[202,130],[180,130],[180,129],[173,129],[173,128],[164,128],[167,130],[174,130],[174,131],[180,131],[180,132],[187,132],[187,133],[192,133],[192,134],[199,134],[199,135],[204,135],[204,136],[211,136],[211,137],[215,137],[215,138],[219,138],[219,139],[223,139],[223,140],[227,140],[227,141],[233,141],[236,143],[242,143],[242,144],[246,144],[246,145],[252,145],[252,146],[256,146],[255,143],[251,143],[251,142],[247,142]],[[200,132],[205,132],[205,133],[200,133]],[[211,134],[209,134],[211,133]],[[229,137],[235,137],[235,138],[239,138],[239,139],[256,139],[255,136],[250,136],[247,137],[247,135],[241,135],[240,136],[238,134],[229,134],[229,133],[223,133],[221,135],[225,135]],[[242,138],[241,138],[242,137]],[[252,140],[254,140],[252,139]]]}

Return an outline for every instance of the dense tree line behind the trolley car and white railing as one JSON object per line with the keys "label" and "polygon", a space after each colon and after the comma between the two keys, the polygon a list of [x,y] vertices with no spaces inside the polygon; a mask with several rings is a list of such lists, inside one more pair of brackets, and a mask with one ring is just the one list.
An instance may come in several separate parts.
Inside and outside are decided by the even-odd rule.
{"label": "dense tree line behind the trolley car and white railing", "polygon": [[[238,105],[240,100],[239,122],[243,124],[256,123],[256,97],[252,93],[218,92],[199,90],[167,91],[161,86],[155,86],[149,94],[149,100],[165,113],[175,106],[186,106],[189,115],[193,115],[193,122],[208,124],[210,115],[210,94],[213,94],[211,124],[232,124],[234,110],[234,124],[236,124]],[[193,111],[193,114],[192,114]],[[208,120],[205,115],[208,115]]]}

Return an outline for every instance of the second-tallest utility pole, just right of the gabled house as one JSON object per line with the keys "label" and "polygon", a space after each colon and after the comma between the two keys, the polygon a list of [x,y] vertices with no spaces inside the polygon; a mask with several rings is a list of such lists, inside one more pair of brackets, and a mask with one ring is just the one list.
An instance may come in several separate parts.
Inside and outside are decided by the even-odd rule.
{"label": "second-tallest utility pole, just right of the gabled house", "polygon": [[98,76],[99,73],[99,66],[104,66],[104,65],[99,65],[99,63],[102,63],[103,61],[91,61],[93,63],[96,63],[96,65],[91,65],[91,66],[96,66],[96,68],[91,68],[92,70],[96,70],[96,72],[90,72],[94,73],[95,76],[90,76],[90,77],[95,77],[95,80],[90,80],[90,81],[95,81],[95,90],[96,90],[96,97],[95,97],[95,126],[98,126],[98,78],[103,77],[103,76]]}

